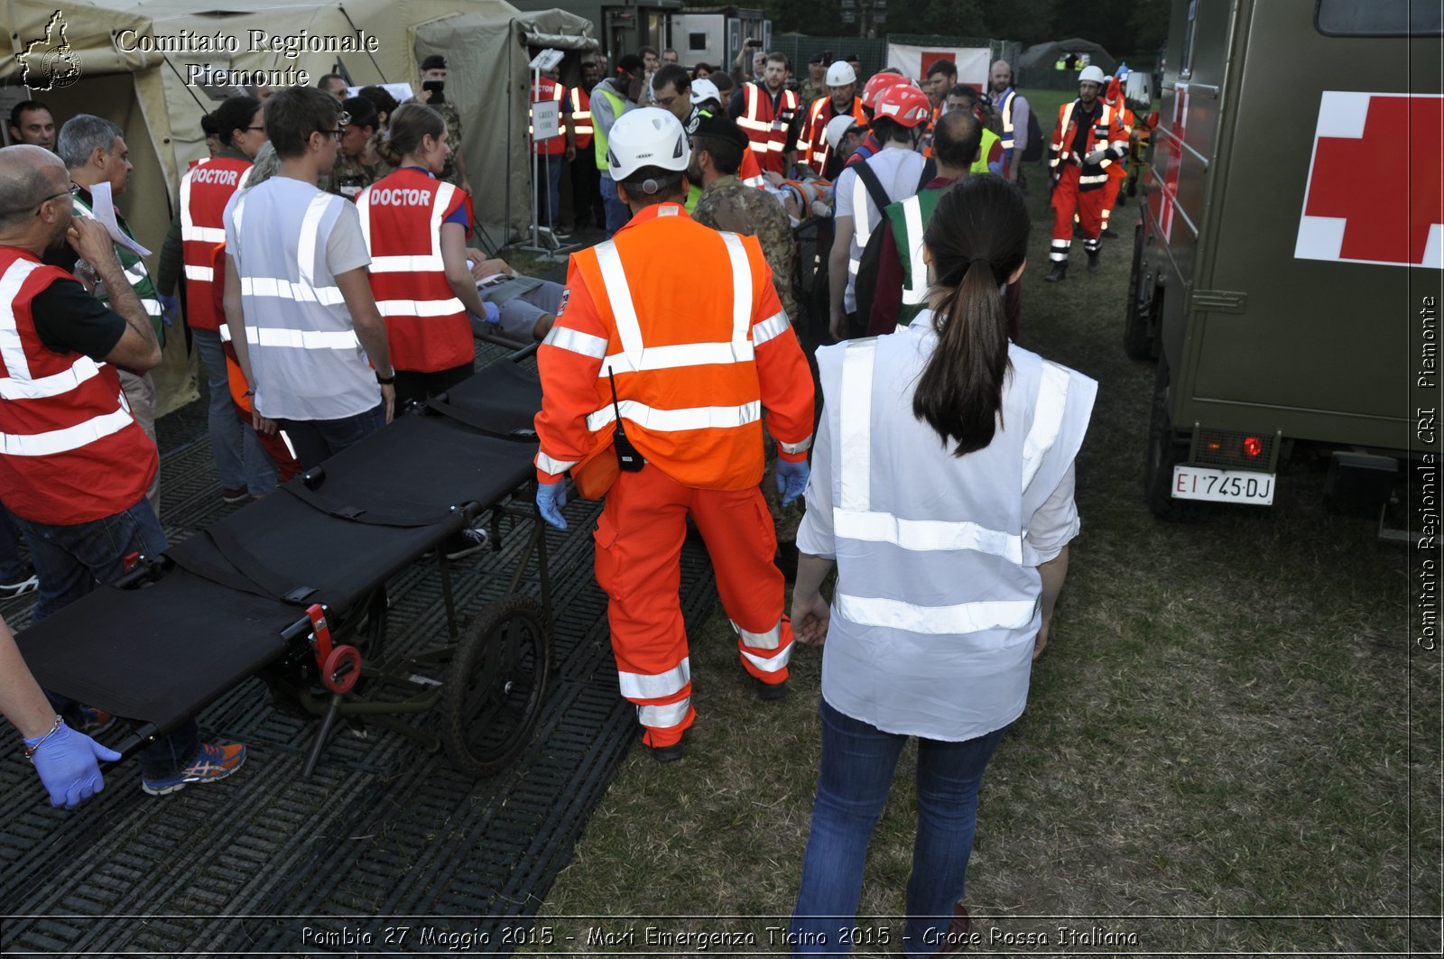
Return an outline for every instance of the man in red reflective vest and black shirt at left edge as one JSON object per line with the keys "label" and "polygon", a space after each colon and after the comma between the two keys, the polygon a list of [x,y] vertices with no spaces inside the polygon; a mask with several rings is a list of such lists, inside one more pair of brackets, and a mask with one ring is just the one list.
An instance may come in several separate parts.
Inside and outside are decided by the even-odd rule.
{"label": "man in red reflective vest and black shirt at left edge", "polygon": [[[35,621],[118,579],[129,553],[166,549],[146,503],[156,445],[131,416],[116,373],[150,370],[160,344],[105,227],[75,217],[78,191],[49,150],[0,150],[0,498],[25,530],[40,578]],[[105,283],[108,305],[40,261],[65,243]],[[78,703],[52,698],[52,705],[79,725]],[[186,722],[142,751],[142,789],[173,793],[224,778],[244,761],[244,745],[201,744],[195,722]]]}

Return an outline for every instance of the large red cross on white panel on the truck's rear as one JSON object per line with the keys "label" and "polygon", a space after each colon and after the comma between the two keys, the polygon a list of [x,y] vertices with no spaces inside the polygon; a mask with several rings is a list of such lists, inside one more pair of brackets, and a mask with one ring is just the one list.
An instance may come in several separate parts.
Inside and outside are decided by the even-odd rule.
{"label": "large red cross on white panel on the truck's rear", "polygon": [[1444,266],[1444,97],[1324,92],[1294,256]]}

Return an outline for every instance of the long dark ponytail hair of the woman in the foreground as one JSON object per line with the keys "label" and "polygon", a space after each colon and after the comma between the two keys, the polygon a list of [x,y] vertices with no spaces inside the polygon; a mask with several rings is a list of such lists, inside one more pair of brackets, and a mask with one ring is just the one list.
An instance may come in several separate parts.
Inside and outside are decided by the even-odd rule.
{"label": "long dark ponytail hair of the woman in the foreground", "polygon": [[983,449],[1001,423],[1008,319],[999,286],[1028,254],[1028,209],[1001,176],[967,176],[937,202],[923,243],[933,253],[933,351],[913,415],[954,456]]}

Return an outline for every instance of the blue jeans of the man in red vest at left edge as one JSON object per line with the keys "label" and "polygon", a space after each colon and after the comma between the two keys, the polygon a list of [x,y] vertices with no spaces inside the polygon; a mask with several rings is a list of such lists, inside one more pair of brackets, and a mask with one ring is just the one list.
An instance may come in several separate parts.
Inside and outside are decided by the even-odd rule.
{"label": "blue jeans of the man in red vest at left edge", "polygon": [[[129,553],[159,556],[166,549],[166,533],[147,500],[129,510],[90,523],[55,526],[14,517],[30,543],[30,559],[40,578],[33,622],[53,615],[100,583],[110,583],[126,572]],[[55,711],[75,726],[78,703],[46,690]],[[140,773],[146,778],[166,778],[186,765],[201,750],[193,719],[160,737],[140,752]]]}

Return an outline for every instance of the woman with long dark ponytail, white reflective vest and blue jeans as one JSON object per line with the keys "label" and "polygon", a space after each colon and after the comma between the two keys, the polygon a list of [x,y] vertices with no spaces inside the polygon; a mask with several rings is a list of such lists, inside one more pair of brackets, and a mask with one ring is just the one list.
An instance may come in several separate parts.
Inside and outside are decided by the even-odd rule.
{"label": "woman with long dark ponytail, white reflective vest and blue jeans", "polygon": [[[1073,461],[1097,384],[1011,345],[1017,188],[970,176],[924,234],[930,309],[907,331],[817,351],[823,417],[793,592],[823,648],[822,767],[796,953],[846,952],[868,841],[918,738],[908,956],[966,942],[959,903],[983,768],[1028,695],[1079,531]],[[823,579],[838,566],[832,604]]]}

